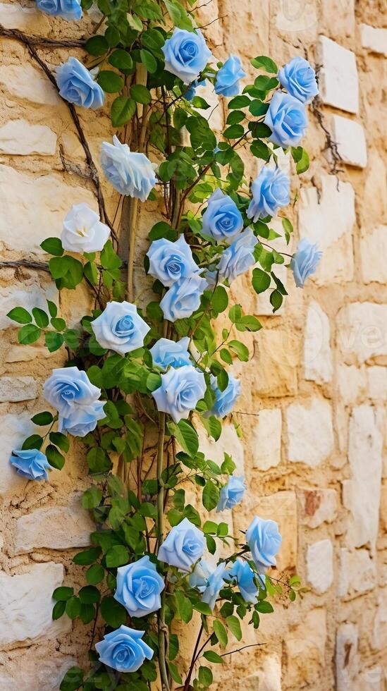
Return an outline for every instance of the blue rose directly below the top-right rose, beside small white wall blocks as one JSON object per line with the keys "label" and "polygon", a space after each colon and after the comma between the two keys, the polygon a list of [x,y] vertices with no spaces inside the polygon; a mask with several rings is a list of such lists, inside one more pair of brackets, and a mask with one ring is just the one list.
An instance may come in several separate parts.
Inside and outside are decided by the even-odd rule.
{"label": "blue rose directly below the top-right rose, beside small white wall blocks", "polygon": [[290,94],[277,91],[271,99],[264,123],[272,131],[269,142],[284,149],[297,147],[307,130],[305,106]]}

